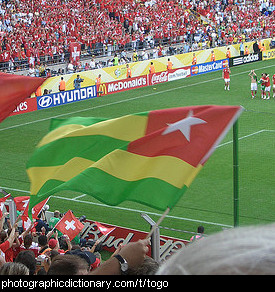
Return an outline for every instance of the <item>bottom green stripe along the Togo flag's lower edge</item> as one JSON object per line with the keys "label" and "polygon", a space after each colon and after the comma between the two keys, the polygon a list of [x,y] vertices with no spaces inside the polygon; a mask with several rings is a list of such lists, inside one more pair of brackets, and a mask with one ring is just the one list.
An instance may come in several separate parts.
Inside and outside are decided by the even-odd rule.
{"label": "bottom green stripe along the Togo flag's lower edge", "polygon": [[[87,178],[89,183],[87,183]],[[167,206],[172,208],[186,189],[186,186],[179,189],[156,178],[125,181],[97,168],[89,168],[67,182],[47,181],[37,195],[31,196],[31,202],[41,201],[59,191],[71,190],[90,194],[108,205],[114,206],[129,200],[164,211]],[[167,196],[160,195],[160,193],[167,194]]]}

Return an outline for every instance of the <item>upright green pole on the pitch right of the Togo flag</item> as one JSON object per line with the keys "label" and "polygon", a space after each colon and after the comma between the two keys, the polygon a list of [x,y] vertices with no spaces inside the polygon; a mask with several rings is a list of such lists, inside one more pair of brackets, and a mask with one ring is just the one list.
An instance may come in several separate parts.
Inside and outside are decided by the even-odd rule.
{"label": "upright green pole on the pitch right of the Togo flag", "polygon": [[233,206],[234,206],[234,227],[239,226],[239,139],[238,120],[233,125]]}

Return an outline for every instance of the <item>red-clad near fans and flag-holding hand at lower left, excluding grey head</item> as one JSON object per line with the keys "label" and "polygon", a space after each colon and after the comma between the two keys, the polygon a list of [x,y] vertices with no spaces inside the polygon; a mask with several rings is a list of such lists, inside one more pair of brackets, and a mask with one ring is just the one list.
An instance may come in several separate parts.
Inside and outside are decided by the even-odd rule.
{"label": "red-clad near fans and flag-holding hand at lower left, excluding grey head", "polygon": [[[45,210],[27,228],[21,216],[11,226],[9,214],[0,219],[0,275],[82,275],[121,274],[120,258],[127,259],[127,274],[155,273],[159,265],[148,253],[149,240],[119,246],[105,262],[101,259],[101,243],[76,236],[70,240],[54,228],[62,214],[55,211],[47,222]],[[86,217],[85,217],[86,218]],[[21,225],[21,226],[20,226]],[[116,257],[119,257],[118,259]]]}

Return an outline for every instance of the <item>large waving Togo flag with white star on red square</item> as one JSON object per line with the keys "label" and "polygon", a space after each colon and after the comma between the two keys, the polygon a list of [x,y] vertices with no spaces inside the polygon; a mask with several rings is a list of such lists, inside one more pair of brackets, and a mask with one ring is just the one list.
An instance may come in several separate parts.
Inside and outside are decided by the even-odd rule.
{"label": "large waving Togo flag with white star on red square", "polygon": [[27,163],[30,206],[62,190],[108,204],[175,206],[242,112],[192,106],[115,119],[53,119]]}

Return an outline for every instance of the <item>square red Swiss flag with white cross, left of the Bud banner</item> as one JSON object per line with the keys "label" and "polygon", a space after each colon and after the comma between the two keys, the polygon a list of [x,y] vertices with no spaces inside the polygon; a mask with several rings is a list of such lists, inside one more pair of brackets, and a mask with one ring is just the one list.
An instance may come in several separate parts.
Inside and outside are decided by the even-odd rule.
{"label": "square red Swiss flag with white cross, left of the Bud banner", "polygon": [[84,225],[69,210],[62,219],[55,225],[61,233],[68,235],[70,241],[73,240],[83,229]]}

